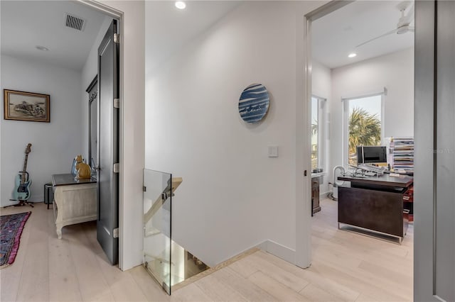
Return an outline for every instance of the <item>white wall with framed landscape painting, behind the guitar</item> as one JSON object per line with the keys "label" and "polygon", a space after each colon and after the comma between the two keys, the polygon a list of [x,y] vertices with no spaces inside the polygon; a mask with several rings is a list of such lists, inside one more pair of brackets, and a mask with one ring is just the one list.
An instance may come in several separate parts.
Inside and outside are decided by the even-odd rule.
{"label": "white wall with framed landscape painting, behind the guitar", "polygon": [[[23,167],[31,142],[27,171],[31,201],[43,201],[51,174],[69,173],[82,153],[80,72],[1,55],[1,89],[50,94],[50,123],[6,121],[1,118],[1,206],[11,203],[14,177]],[[2,106],[2,116],[4,108]]]}

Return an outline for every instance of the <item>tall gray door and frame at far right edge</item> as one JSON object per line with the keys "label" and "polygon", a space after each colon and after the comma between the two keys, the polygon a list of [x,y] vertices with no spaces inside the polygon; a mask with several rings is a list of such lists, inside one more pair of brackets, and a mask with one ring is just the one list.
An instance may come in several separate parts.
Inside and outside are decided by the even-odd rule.
{"label": "tall gray door and frame at far right edge", "polygon": [[454,16],[455,1],[415,3],[415,301],[455,301]]}

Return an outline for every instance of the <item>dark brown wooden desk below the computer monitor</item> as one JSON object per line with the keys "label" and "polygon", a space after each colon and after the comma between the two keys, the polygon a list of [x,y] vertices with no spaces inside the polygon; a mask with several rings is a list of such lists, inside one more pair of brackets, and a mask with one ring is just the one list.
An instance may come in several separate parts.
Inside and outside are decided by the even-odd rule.
{"label": "dark brown wooden desk below the computer monitor", "polygon": [[350,186],[338,187],[338,228],[340,223],[374,230],[400,238],[406,235],[403,194],[412,186],[408,176],[338,177]]}

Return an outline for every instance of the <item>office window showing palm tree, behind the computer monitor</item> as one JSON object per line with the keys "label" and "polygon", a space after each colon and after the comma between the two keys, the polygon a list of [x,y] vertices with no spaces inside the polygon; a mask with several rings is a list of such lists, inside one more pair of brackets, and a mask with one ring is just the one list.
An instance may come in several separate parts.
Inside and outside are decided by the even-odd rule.
{"label": "office window showing palm tree, behind the computer monitor", "polygon": [[379,146],[383,142],[383,96],[376,94],[344,100],[346,126],[343,138],[348,164],[357,165],[357,146]]}

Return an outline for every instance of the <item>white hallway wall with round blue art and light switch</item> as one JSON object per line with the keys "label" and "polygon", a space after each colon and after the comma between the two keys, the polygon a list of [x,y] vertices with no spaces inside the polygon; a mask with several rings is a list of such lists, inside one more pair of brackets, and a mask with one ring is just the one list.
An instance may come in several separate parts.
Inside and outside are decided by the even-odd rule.
{"label": "white hallway wall with round blue art and light switch", "polygon": [[[209,265],[267,240],[289,255],[296,249],[296,191],[304,186],[296,175],[304,181],[309,169],[309,157],[296,164],[304,140],[296,125],[309,124],[296,112],[304,107],[300,26],[322,4],[245,2],[161,69],[146,69],[145,167],[183,177],[173,239]],[[256,82],[271,105],[262,123],[249,125],[238,99]],[[278,158],[267,157],[268,145],[279,145]]]}

